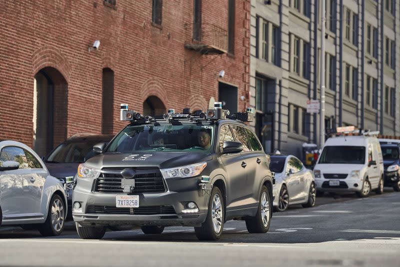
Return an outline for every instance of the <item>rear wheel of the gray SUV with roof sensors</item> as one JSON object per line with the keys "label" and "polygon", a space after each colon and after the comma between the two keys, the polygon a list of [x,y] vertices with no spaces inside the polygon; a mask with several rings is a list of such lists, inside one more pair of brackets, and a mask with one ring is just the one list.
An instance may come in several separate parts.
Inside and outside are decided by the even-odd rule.
{"label": "rear wheel of the gray SUV with roof sensors", "polygon": [[259,196],[258,210],[255,217],[246,218],[246,228],[249,233],[266,233],[269,230],[272,216],[272,204],[268,188],[263,185]]}

